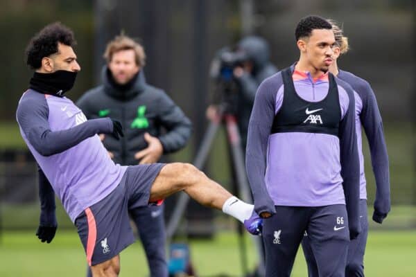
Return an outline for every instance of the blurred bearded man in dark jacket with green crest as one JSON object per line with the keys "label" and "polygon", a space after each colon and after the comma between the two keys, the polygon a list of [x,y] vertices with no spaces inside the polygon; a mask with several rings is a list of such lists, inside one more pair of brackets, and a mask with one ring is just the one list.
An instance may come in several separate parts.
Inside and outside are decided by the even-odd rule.
{"label": "blurred bearded man in dark jacket with green crest", "polygon": [[[111,116],[125,127],[117,141],[101,135],[115,163],[132,166],[155,163],[162,154],[184,147],[191,135],[191,122],[162,89],[146,84],[143,47],[119,35],[107,44],[103,84],[78,100],[87,118]],[[146,251],[151,276],[168,276],[163,205],[130,210]]]}

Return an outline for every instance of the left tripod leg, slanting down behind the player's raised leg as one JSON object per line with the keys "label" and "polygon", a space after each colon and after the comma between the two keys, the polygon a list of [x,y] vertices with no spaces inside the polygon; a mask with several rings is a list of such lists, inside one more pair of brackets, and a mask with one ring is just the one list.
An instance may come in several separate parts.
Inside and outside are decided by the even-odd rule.
{"label": "left tripod leg, slanting down behind the player's raised leg", "polygon": [[[211,144],[212,141],[214,141],[219,125],[220,121],[211,121],[209,124],[207,132],[205,132],[204,138],[202,139],[198,153],[196,154],[196,158],[193,161],[193,165],[196,166],[196,168],[200,169],[202,166],[204,166],[204,163],[208,157],[209,149],[211,149]],[[166,237],[168,240],[171,240],[172,236],[175,234],[180,219],[184,214],[185,208],[187,208],[188,202],[189,196],[186,193],[180,193],[179,199],[177,199],[175,210],[173,211],[171,219],[166,226]]]}

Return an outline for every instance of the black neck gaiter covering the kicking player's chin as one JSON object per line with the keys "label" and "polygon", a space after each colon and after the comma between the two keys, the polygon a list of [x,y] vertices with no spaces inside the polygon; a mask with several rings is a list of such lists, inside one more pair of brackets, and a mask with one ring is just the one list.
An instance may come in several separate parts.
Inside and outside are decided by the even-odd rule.
{"label": "black neck gaiter covering the kicking player's chin", "polygon": [[33,73],[30,88],[44,94],[63,97],[72,89],[77,72],[58,70],[53,73]]}

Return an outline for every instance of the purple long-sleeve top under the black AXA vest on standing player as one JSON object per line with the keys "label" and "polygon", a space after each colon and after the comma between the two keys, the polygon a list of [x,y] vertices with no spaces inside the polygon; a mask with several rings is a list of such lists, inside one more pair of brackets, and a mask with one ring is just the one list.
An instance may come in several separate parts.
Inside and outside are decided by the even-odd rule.
{"label": "purple long-sleeve top under the black AXA vest on standing player", "polygon": [[[327,96],[328,76],[313,80],[293,72],[297,94],[309,102]],[[257,213],[274,206],[347,204],[358,220],[359,165],[354,120],[354,91],[336,78],[341,109],[338,136],[306,132],[270,134],[284,98],[281,72],[261,83],[250,118],[246,170]],[[347,190],[345,189],[347,188]],[[347,203],[345,203],[347,197]]]}

